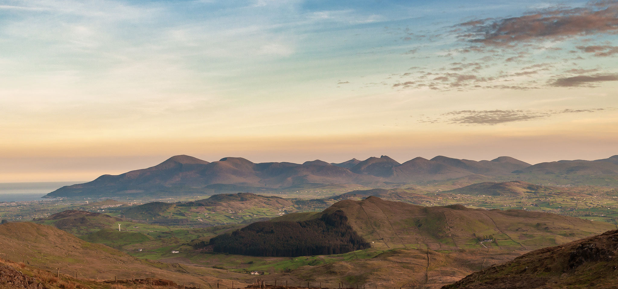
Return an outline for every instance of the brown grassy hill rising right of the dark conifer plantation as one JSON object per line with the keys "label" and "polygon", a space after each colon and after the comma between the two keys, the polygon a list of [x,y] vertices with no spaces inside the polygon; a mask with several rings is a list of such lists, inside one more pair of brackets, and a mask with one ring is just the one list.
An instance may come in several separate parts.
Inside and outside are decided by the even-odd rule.
{"label": "brown grassy hill rising right of the dark conifer plantation", "polygon": [[[337,230],[343,230],[342,232],[352,230],[376,249],[408,248],[420,245],[430,249],[483,248],[486,245],[480,244],[479,241],[491,236],[494,241],[488,246],[499,249],[530,250],[565,243],[614,228],[614,225],[604,222],[591,222],[543,212],[497,209],[487,211],[470,209],[461,205],[425,207],[385,201],[375,196],[362,201],[351,199],[339,201],[323,212],[297,222],[320,220],[332,214],[344,216],[344,221],[340,223],[345,230],[341,228]],[[296,216],[302,215],[303,213],[296,214]],[[278,220],[276,218],[269,222]],[[290,217],[287,216],[282,217],[282,220],[291,222]],[[252,230],[255,238],[271,242],[270,245],[265,243],[264,246],[287,248],[287,245],[281,242],[289,241],[289,246],[293,246],[292,243],[298,238],[314,238],[310,233],[306,237],[297,236],[293,239],[272,238],[269,234],[276,235],[277,232],[265,229],[264,226],[270,225],[261,223],[263,222],[254,223],[242,230]],[[302,224],[301,227],[303,227]],[[348,225],[350,227],[347,227]],[[248,240],[243,233],[232,232],[225,238],[214,238],[211,245],[217,246],[219,241],[225,241],[227,247],[219,251],[237,253],[242,251],[241,246],[246,246],[242,245],[243,241],[240,241],[243,238]],[[328,243],[328,240],[324,242]],[[239,248],[232,248],[234,246],[230,244],[234,243],[239,244],[237,245]],[[322,245],[326,246],[326,243]]]}

